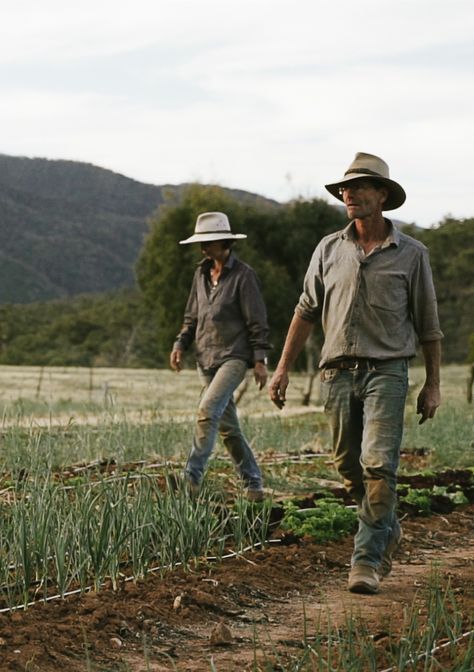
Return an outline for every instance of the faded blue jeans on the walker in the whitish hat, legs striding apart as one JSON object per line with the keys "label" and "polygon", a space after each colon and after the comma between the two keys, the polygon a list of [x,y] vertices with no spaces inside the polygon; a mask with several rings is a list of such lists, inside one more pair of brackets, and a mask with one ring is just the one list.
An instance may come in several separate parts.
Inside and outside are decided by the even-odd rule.
{"label": "faded blue jeans on the walker in the whitish hat, legs striding apart", "polygon": [[202,481],[209,456],[219,433],[246,487],[262,488],[262,475],[245,436],[240,428],[233,394],[244,380],[248,365],[241,359],[229,359],[217,370],[204,371],[198,367],[203,384],[199,402],[193,445],[185,475],[194,484]]}

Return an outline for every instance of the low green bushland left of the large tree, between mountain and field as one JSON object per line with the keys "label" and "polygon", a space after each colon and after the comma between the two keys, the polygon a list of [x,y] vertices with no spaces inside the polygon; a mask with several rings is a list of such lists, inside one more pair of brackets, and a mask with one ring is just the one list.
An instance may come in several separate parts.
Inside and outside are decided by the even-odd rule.
{"label": "low green bushland left of the large tree, between mountain and field", "polygon": [[0,306],[0,362],[40,366],[152,366],[150,314],[139,293]]}

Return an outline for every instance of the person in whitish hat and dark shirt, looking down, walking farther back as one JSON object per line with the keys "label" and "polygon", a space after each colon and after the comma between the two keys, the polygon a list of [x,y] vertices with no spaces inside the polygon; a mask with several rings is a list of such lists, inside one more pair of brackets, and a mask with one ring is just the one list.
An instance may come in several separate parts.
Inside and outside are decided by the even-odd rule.
{"label": "person in whitish hat and dark shirt, looking down, walking farther back", "polygon": [[222,212],[197,218],[195,233],[182,245],[200,243],[205,258],[198,266],[184,313],[184,323],[170,355],[175,371],[183,352],[196,342],[198,373],[203,384],[185,477],[199,491],[204,470],[220,434],[247,487],[251,501],[264,497],[262,476],[240,428],[233,393],[249,367],[263,389],[267,382],[268,325],[257,276],[232,252],[233,234]]}

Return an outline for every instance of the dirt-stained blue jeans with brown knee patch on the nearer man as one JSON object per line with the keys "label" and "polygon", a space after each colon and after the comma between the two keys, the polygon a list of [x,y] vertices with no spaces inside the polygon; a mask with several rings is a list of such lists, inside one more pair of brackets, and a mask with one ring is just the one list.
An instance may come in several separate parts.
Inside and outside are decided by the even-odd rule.
{"label": "dirt-stained blue jeans with brown knee patch on the nearer man", "polygon": [[400,530],[396,483],[408,363],[392,359],[369,369],[326,368],[321,381],[336,468],[358,505],[351,564],[377,568]]}

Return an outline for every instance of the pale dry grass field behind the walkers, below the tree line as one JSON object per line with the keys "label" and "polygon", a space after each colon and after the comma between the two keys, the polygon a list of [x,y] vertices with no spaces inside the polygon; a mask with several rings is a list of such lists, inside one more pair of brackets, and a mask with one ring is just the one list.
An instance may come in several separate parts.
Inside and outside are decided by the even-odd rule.
{"label": "pale dry grass field behind the walkers, below the tree line", "polygon": [[[437,464],[474,464],[474,409],[466,402],[467,367],[446,366],[442,372],[442,406],[435,419],[418,425],[416,395],[423,380],[420,367],[410,371],[403,447],[428,448]],[[319,405],[319,386],[311,407],[301,400],[305,377],[294,374],[283,412],[258,392],[251,374],[239,413],[257,452],[297,452],[311,447],[330,451],[330,436]],[[22,452],[28,439],[14,438],[25,429],[74,428],[74,449],[68,436],[55,434],[58,464],[115,457],[117,460],[182,459],[192,434],[200,386],[195,371],[179,375],[167,370],[0,367],[0,409],[5,459],[11,440]],[[98,432],[98,427],[102,428]],[[36,435],[38,432],[36,432]],[[43,436],[43,439],[45,437]],[[31,439],[31,437],[30,437]],[[26,441],[26,443],[25,443]],[[50,441],[51,443],[51,441]],[[29,446],[28,446],[29,450]]]}

